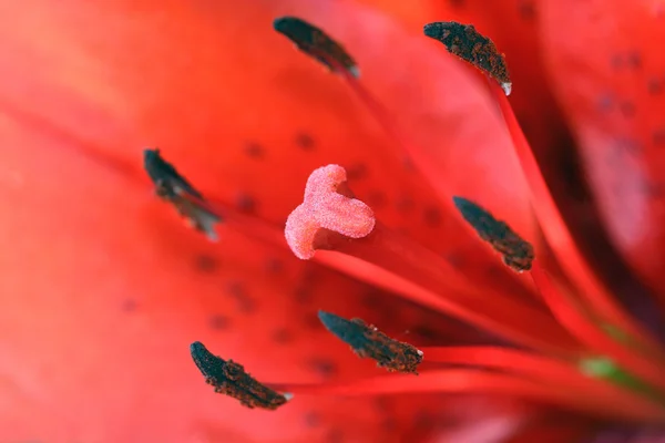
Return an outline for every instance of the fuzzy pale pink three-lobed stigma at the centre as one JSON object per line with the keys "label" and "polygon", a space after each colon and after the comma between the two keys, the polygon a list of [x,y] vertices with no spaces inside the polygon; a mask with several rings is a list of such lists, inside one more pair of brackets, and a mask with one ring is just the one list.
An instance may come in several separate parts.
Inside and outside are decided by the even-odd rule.
{"label": "fuzzy pale pink three-lobed stigma at the centre", "polygon": [[288,216],[284,230],[298,258],[310,259],[316,249],[331,248],[331,234],[362,238],[372,231],[374,212],[352,198],[346,181],[346,171],[339,165],[319,167],[307,179],[304,202]]}

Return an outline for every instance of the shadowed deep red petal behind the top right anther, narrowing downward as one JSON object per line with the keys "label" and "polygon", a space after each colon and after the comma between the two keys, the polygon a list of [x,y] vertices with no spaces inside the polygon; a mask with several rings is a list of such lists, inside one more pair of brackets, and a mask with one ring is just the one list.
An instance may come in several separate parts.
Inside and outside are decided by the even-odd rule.
{"label": "shadowed deep red petal behind the top right anther, narrowing downward", "polygon": [[386,10],[415,31],[431,21],[456,20],[472,23],[490,37],[505,55],[513,81],[511,104],[557,200],[566,204],[571,194],[579,194],[570,175],[574,158],[570,132],[549,87],[540,52],[540,0],[359,1]]}

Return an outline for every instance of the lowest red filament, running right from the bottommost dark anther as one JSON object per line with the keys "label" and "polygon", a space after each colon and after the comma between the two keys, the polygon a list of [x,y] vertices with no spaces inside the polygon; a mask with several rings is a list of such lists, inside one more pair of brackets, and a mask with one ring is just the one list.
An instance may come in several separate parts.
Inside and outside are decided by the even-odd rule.
{"label": "lowest red filament, running right from the bottommost dark anther", "polygon": [[[427,359],[427,353],[424,356]],[[648,423],[665,421],[665,410],[652,402],[636,398],[631,403],[607,403],[605,399],[585,395],[575,390],[562,390],[549,383],[538,383],[524,378],[470,369],[423,371],[419,377],[390,374],[342,383],[291,384],[268,383],[272,389],[296,395],[386,395],[407,393],[482,393],[525,398],[567,410],[604,419]]]}

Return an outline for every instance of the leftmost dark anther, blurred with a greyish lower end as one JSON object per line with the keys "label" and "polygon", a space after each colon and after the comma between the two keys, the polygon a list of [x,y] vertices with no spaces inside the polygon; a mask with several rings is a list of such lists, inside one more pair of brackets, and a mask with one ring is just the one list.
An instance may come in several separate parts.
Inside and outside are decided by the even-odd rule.
{"label": "leftmost dark anther, blurred with a greyish lower end", "polygon": [[208,209],[203,195],[171,163],[162,158],[160,150],[143,152],[143,167],[154,183],[160,198],[171,203],[181,216],[211,240],[217,240],[215,224],[221,220],[219,216]]}

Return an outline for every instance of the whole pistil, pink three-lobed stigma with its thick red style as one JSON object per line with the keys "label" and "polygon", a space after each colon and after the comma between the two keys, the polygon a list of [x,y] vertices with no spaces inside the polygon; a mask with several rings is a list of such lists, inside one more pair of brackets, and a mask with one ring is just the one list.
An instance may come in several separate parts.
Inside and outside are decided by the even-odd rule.
{"label": "whole pistil, pink three-lobed stigma with its thick red style", "polygon": [[[477,288],[440,255],[381,225],[375,226],[369,207],[335,193],[336,186],[340,192],[339,184],[345,178],[344,169],[335,165],[313,173],[305,203],[291,213],[285,229],[287,243],[298,257],[310,258],[316,249],[334,249],[335,253],[319,250],[315,258],[522,344],[554,353],[575,352],[576,344],[540,308],[511,299],[492,288]],[[344,190],[350,195],[350,190]],[[350,205],[350,202],[356,203]],[[332,231],[356,239],[344,240],[331,236]]]}

